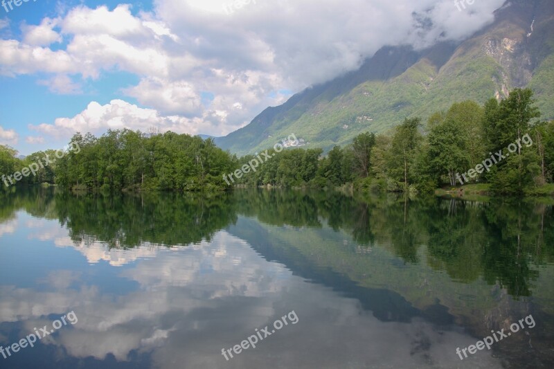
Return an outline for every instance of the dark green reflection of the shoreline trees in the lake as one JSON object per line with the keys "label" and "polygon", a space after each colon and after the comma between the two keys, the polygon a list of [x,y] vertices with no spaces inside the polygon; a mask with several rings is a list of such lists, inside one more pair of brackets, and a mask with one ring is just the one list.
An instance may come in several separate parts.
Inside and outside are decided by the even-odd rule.
{"label": "dark green reflection of the shoreline trees in the lake", "polygon": [[[235,224],[238,216],[255,217],[271,226],[328,226],[351,235],[359,249],[383,247],[404,263],[420,263],[425,251],[425,262],[454,280],[483,278],[516,297],[530,296],[539,276],[537,265],[554,261],[554,234],[548,232],[554,226],[553,206],[530,201],[485,203],[260,189],[217,195],[102,195],[51,188],[20,188],[1,193],[0,200],[0,222],[23,208],[35,217],[66,225],[74,242],[100,241],[117,248],[144,242],[175,246],[209,241],[217,231]],[[357,268],[367,272],[363,260]]]}

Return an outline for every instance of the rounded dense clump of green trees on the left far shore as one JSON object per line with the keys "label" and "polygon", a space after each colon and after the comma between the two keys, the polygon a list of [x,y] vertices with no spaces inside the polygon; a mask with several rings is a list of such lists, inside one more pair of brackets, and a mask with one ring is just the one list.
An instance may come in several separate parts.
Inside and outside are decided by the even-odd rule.
{"label": "rounded dense clump of green trees on the left far shore", "polygon": [[129,129],[109,130],[100,138],[73,136],[81,151],[58,163],[56,181],[66,187],[109,190],[222,190],[222,174],[235,159],[206,141],[187,134],[147,136]]}

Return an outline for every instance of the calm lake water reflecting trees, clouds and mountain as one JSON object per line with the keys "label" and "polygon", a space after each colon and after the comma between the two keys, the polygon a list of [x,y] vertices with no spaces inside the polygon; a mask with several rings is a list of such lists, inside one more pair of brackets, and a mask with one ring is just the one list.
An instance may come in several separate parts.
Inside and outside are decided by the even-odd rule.
{"label": "calm lake water reflecting trees, clouds and mountain", "polygon": [[[0,345],[53,331],[0,368],[554,367],[552,205],[265,190],[0,200]],[[456,354],[530,315],[535,327]],[[235,346],[266,326],[256,348]]]}

